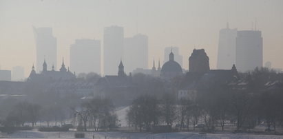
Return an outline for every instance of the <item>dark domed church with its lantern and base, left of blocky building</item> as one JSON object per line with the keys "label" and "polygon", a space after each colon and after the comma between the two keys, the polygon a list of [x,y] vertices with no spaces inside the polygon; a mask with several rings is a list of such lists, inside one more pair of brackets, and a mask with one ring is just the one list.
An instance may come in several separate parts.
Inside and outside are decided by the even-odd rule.
{"label": "dark domed church with its lantern and base, left of blocky building", "polygon": [[169,54],[169,61],[164,63],[160,71],[160,78],[169,81],[171,78],[182,75],[182,67],[179,63],[174,61],[174,54],[171,51]]}

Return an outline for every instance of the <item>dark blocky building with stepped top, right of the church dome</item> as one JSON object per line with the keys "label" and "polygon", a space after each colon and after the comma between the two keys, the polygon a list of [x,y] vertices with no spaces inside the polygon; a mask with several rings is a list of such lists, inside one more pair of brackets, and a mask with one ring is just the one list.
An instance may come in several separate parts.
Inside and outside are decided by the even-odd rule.
{"label": "dark blocky building with stepped top, right of the church dome", "polygon": [[193,50],[189,56],[189,72],[206,73],[209,71],[209,56],[204,49]]}

